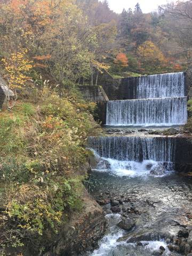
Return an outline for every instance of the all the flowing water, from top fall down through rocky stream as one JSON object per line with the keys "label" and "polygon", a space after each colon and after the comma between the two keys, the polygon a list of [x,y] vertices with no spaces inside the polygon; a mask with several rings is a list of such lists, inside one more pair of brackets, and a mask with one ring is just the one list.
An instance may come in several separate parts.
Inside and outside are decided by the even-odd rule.
{"label": "all the flowing water, from top fall down through rocky stream", "polygon": [[[135,88],[134,84],[132,97],[137,94],[137,99],[107,102],[107,125],[166,126],[187,122],[183,73],[142,76],[137,79],[137,93]],[[180,147],[181,143],[177,137],[149,137],[148,134],[146,137],[88,139],[88,147],[94,153],[94,159],[90,158],[92,170],[96,171],[92,174],[90,191],[94,196],[98,193],[97,198],[102,203],[105,195],[107,199],[108,195],[117,199],[107,200],[110,203],[103,206],[109,228],[92,256],[170,255],[167,243],[171,240],[167,242],[164,238],[169,238],[167,234],[173,237],[175,232],[178,239],[178,227],[174,231],[175,219],[179,215],[183,217],[183,204],[191,194],[185,195],[186,187],[183,189],[185,183],[182,182],[178,191],[180,177],[176,183],[170,178],[174,177],[172,173],[178,161],[178,145]],[[118,206],[112,207],[114,205]],[[123,223],[134,221],[135,226],[127,229],[119,225],[121,220]],[[178,223],[180,225],[180,220]],[[178,250],[172,254],[180,255]]]}

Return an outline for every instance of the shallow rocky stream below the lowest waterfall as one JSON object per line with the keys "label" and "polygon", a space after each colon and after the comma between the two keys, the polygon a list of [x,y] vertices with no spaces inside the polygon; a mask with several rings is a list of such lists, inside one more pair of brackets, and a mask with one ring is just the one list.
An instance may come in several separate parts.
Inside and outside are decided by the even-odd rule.
{"label": "shallow rocky stream below the lowest waterfall", "polygon": [[108,228],[99,248],[86,255],[192,255],[191,179],[93,172],[87,187]]}

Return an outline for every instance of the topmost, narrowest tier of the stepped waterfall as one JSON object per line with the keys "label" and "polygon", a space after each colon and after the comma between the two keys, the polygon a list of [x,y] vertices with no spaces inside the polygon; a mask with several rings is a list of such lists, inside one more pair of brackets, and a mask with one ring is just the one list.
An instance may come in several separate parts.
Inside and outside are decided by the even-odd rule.
{"label": "topmost, narrowest tier of the stepped waterfall", "polygon": [[137,98],[166,98],[185,96],[183,72],[139,77]]}

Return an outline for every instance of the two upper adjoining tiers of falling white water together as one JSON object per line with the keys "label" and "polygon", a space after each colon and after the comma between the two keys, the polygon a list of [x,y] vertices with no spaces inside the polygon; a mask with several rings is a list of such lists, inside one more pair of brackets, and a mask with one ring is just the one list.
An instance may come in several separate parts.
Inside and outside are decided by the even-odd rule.
{"label": "two upper adjoining tiers of falling white water together", "polygon": [[182,72],[141,76],[137,99],[107,102],[106,125],[168,126],[186,122],[187,97]]}

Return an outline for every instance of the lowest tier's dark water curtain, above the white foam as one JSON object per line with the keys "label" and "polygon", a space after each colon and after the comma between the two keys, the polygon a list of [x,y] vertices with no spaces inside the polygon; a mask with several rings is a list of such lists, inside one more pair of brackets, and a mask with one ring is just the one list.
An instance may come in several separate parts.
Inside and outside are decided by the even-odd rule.
{"label": "lowest tier's dark water curtain, above the white foam", "polygon": [[88,144],[100,157],[118,161],[174,162],[175,138],[90,137]]}

